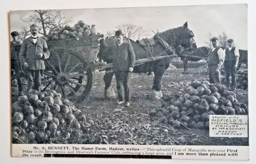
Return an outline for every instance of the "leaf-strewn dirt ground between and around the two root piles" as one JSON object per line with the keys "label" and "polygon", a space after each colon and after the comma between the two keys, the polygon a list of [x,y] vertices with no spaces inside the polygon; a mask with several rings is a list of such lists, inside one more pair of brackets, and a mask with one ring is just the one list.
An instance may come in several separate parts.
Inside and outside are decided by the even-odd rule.
{"label": "leaf-strewn dirt ground between and around the two root piles", "polygon": [[[75,103],[75,98],[70,98],[70,100],[74,102],[76,108],[90,116],[92,120],[94,119],[96,128],[104,133],[108,132],[102,136],[104,138],[100,142],[102,144],[248,145],[248,138],[209,137],[209,130],[206,129],[188,130],[182,128],[177,130],[148,114],[149,110],[168,105],[170,96],[179,89],[188,86],[193,80],[208,78],[202,69],[189,69],[186,74],[182,74],[182,71],[183,69],[166,70],[162,78],[163,100],[149,100],[148,95],[151,91],[154,75],[132,74],[131,106],[130,108],[119,106],[116,104],[116,100],[104,98],[104,72],[94,72],[92,91],[84,102],[78,104]],[[117,94],[115,77],[112,80],[112,88]],[[248,91],[238,90],[237,100],[248,104]],[[106,120],[108,121],[106,122]],[[92,142],[92,135],[88,137],[91,141],[86,143],[95,143]]]}

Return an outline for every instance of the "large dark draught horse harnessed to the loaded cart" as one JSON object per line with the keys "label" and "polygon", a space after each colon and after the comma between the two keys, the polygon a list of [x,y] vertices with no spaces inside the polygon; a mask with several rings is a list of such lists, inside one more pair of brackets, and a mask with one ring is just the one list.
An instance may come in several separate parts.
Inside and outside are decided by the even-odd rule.
{"label": "large dark draught horse harnessed to the loaded cart", "polygon": [[[161,33],[158,32],[150,39],[133,41],[124,37],[124,41],[132,44],[137,60],[152,56],[179,55],[182,54],[184,50],[196,51],[197,46],[193,37],[194,34],[192,30],[188,28],[188,23],[186,22],[183,26],[178,28],[169,29]],[[143,42],[147,42],[147,44],[143,44]],[[111,48],[115,44],[117,44],[115,37],[101,39],[100,51],[97,57],[107,63],[112,63]],[[154,82],[150,93],[150,99],[159,100],[162,98],[161,80],[165,70],[169,67],[169,64],[170,58],[164,58],[134,66],[133,73],[154,72]],[[112,68],[108,68],[104,75],[104,96],[106,98],[116,97],[111,87],[111,81],[114,75],[114,72],[111,72],[111,69]]]}

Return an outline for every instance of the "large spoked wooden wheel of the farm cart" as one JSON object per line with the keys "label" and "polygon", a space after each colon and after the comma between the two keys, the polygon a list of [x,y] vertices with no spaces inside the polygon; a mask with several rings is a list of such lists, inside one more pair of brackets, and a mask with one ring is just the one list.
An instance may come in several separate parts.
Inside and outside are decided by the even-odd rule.
{"label": "large spoked wooden wheel of the farm cart", "polygon": [[92,89],[92,70],[82,55],[72,50],[56,49],[50,52],[50,58],[45,61],[42,91],[55,90],[64,98],[88,96]]}

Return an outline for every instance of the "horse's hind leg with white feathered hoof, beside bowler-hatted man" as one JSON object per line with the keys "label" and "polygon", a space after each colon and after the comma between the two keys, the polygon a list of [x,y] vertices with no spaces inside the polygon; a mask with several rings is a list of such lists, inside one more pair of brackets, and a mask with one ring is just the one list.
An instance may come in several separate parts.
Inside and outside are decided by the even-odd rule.
{"label": "horse's hind leg with white feathered hoof, beside bowler-hatted man", "polygon": [[110,71],[111,68],[106,69],[106,74],[104,75],[103,79],[105,82],[105,88],[104,88],[104,97],[105,98],[110,98],[110,99],[115,99],[116,98],[116,94],[111,86],[111,82],[112,82],[112,78],[114,75],[114,72],[108,72]]}

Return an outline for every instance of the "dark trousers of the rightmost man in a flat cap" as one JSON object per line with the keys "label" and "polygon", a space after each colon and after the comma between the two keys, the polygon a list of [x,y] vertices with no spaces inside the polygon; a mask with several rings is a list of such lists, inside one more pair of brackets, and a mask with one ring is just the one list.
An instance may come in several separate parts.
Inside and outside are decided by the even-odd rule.
{"label": "dark trousers of the rightmost man in a flat cap", "polygon": [[236,88],[237,84],[236,84],[236,69],[234,68],[236,64],[236,61],[225,61],[224,62],[224,69],[225,69],[225,85],[227,88],[230,87],[230,75],[231,75],[231,79],[232,79],[232,87]]}

